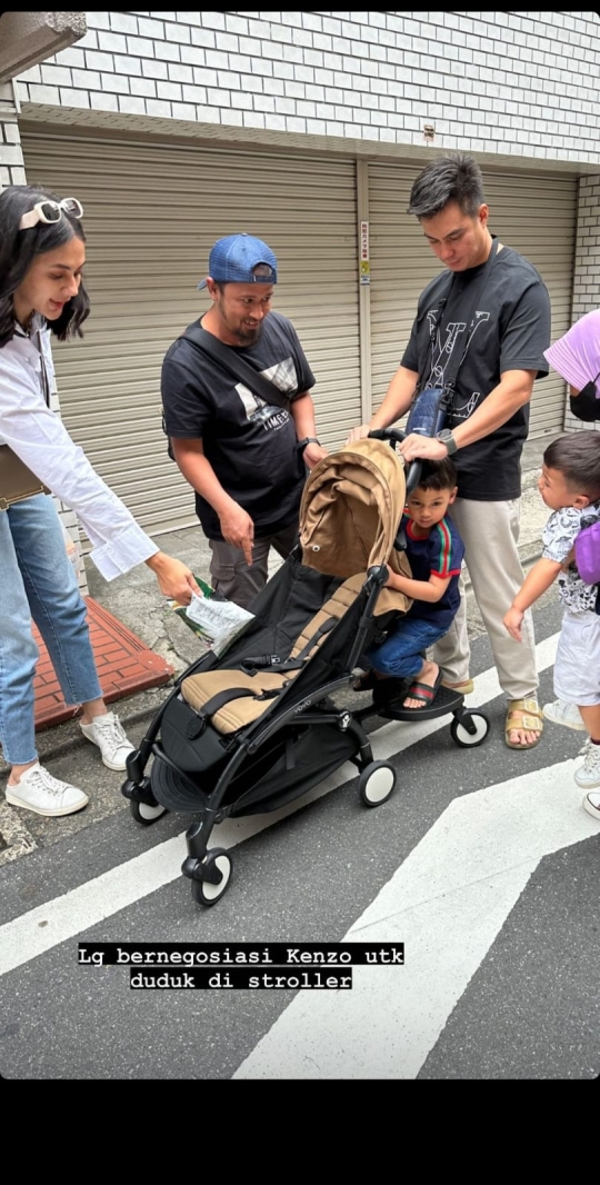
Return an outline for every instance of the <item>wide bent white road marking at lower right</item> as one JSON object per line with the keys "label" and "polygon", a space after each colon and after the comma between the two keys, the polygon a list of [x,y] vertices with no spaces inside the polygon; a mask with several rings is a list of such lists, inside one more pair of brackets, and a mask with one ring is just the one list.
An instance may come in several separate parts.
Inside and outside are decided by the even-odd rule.
{"label": "wide bent white road marking at lower right", "polygon": [[350,992],[299,992],[239,1078],[413,1078],[540,859],[598,834],[575,760],[453,799],[341,940],[405,943]]}

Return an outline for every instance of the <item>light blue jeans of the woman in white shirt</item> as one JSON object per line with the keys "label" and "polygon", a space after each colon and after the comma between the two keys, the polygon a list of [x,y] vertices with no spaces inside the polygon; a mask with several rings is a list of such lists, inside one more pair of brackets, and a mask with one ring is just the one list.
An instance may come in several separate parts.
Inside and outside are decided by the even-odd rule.
{"label": "light blue jeans of the woman in white shirt", "polygon": [[0,741],[5,761],[34,761],[36,622],[66,704],[102,696],[86,606],[54,502],[37,494],[0,511]]}

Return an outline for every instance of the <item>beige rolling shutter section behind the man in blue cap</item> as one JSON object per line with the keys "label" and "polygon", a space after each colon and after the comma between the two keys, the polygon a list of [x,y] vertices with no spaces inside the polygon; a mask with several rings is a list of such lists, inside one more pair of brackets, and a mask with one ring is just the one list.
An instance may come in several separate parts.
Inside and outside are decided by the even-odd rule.
{"label": "beige rolling shutter section behind the man in blue cap", "polygon": [[293,321],[316,376],[328,447],[360,422],[354,161],[24,130],[30,182],[85,209],[92,314],[54,345],[64,422],[147,531],[196,523],[166,453],[160,372],[208,308],[196,289],[217,238],[249,231],[276,251],[273,307]]}

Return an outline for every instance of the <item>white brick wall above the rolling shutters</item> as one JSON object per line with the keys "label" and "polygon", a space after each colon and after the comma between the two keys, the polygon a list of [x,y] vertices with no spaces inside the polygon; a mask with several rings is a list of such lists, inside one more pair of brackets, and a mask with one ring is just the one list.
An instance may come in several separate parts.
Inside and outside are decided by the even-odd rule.
{"label": "white brick wall above the rolling shutters", "polygon": [[90,12],[24,102],[599,162],[594,12]]}

